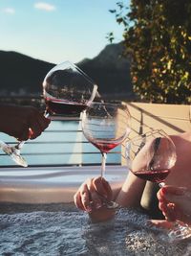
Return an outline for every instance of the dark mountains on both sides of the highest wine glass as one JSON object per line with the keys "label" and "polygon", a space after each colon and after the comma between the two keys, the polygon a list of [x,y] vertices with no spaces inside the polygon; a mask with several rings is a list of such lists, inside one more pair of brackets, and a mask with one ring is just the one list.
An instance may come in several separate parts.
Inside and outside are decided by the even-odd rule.
{"label": "dark mountains on both sides of the highest wine glass", "polygon": [[[76,63],[98,85],[100,94],[132,95],[130,61],[122,43],[107,45],[96,58]],[[42,81],[54,64],[16,52],[0,51],[0,96],[41,94]]]}

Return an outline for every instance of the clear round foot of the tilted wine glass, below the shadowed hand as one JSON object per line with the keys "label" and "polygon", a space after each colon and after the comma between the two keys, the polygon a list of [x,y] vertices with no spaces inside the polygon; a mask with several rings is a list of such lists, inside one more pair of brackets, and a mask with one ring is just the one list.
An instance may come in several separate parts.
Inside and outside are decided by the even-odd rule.
{"label": "clear round foot of the tilted wine glass, below the shadowed hand", "polygon": [[28,163],[25,160],[24,157],[22,157],[20,155],[20,151],[15,149],[14,147],[10,147],[9,145],[7,145],[4,142],[1,142],[0,148],[2,149],[2,151],[4,151],[5,153],[7,153],[8,155],[11,156],[11,159],[18,165],[21,165],[23,167],[28,167]]}

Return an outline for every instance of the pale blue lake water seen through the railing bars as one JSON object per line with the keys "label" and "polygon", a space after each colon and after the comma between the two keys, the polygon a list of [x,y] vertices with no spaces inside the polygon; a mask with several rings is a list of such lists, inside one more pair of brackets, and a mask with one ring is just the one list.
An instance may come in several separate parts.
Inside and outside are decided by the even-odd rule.
{"label": "pale blue lake water seen through the railing bars", "polygon": [[[15,139],[0,133],[0,140],[15,143]],[[29,165],[99,164],[100,152],[85,139],[78,121],[52,121],[38,138],[26,142],[22,155]],[[107,163],[120,164],[120,146],[108,153]],[[0,165],[14,165],[1,151]]]}

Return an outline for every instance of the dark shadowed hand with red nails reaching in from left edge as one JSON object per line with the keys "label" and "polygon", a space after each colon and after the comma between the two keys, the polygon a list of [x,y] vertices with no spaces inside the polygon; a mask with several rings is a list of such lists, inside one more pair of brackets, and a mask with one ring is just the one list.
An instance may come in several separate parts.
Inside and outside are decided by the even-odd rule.
{"label": "dark shadowed hand with red nails reaching in from left edge", "polygon": [[50,124],[33,106],[0,105],[0,131],[19,141],[34,139]]}

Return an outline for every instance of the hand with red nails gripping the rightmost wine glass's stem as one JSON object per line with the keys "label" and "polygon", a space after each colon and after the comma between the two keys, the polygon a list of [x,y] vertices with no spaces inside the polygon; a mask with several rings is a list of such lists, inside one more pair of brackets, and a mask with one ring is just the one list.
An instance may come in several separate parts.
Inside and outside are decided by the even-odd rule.
{"label": "hand with red nails gripping the rightmost wine glass's stem", "polygon": [[158,192],[159,209],[169,221],[191,223],[191,192],[185,187],[165,186]]}

